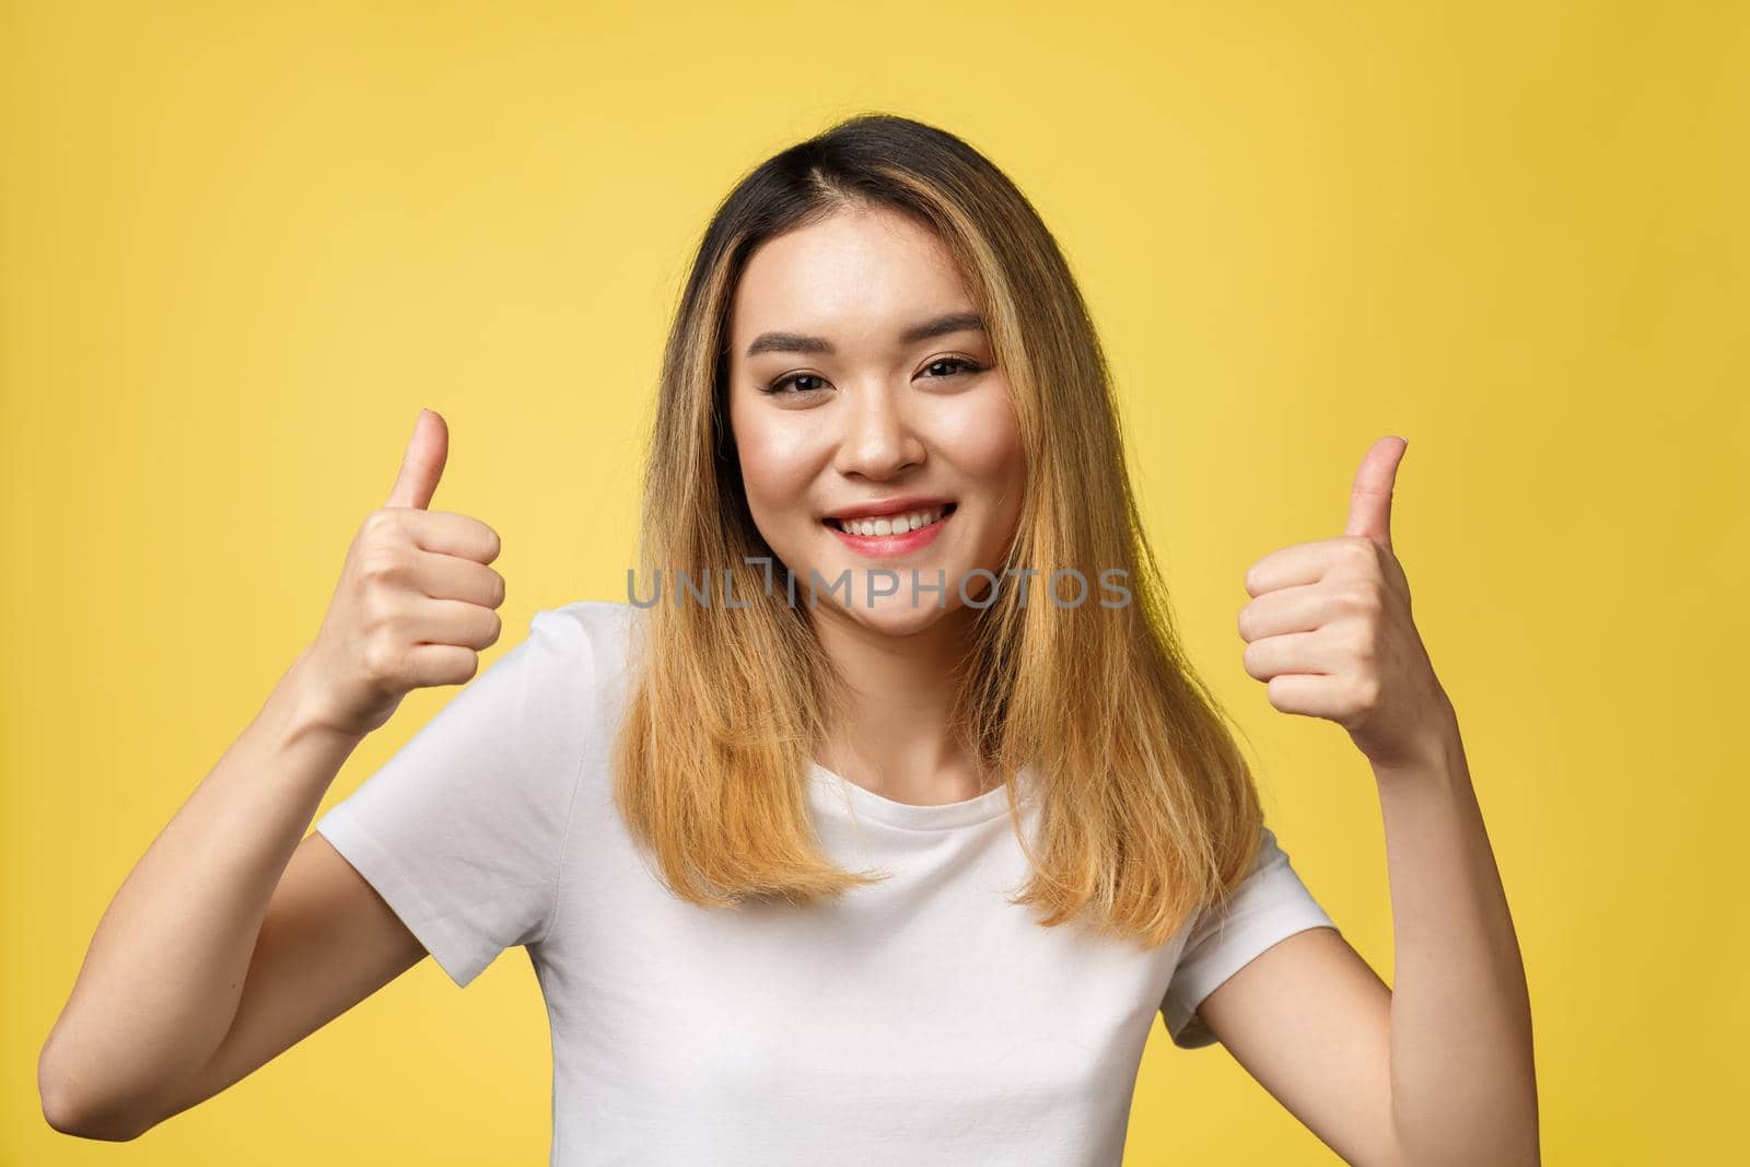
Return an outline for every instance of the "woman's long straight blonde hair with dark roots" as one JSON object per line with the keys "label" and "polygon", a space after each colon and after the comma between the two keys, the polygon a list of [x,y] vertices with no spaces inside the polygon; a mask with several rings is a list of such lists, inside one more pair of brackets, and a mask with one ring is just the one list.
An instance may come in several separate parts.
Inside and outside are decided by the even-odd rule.
{"label": "woman's long straight blonde hair with dark roots", "polygon": [[[850,117],[747,173],[710,219],[663,353],[639,572],[719,579],[760,556],[728,425],[733,290],[766,240],[847,206],[912,215],[943,240],[1008,374],[1027,488],[1004,567],[1094,579],[1130,602],[978,611],[950,724],[999,775],[1040,786],[1038,835],[1010,821],[1034,875],[1013,899],[1043,927],[1082,919],[1155,947],[1251,866],[1262,810],[1225,714],[1185,660],[1125,465],[1111,380],[1082,292],[1022,192],[961,138],[896,115]],[[1001,572],[999,572],[1001,574]],[[758,577],[758,572],[754,572]],[[1006,577],[1006,576],[1004,576]],[[614,798],[679,898],[798,905],[880,882],[821,849],[808,752],[844,684],[786,588],[737,586],[746,609],[662,600],[639,612],[614,744]]]}

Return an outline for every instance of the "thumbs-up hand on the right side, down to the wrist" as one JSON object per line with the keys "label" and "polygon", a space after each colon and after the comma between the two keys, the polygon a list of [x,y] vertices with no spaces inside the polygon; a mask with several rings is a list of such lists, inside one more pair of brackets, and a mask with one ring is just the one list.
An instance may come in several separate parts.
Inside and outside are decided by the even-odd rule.
{"label": "thumbs-up hand on the right side, down to the wrist", "polygon": [[1456,731],[1391,553],[1391,488],[1407,444],[1376,441],[1354,474],[1344,532],[1253,563],[1253,598],[1239,612],[1246,674],[1269,684],[1270,705],[1335,721],[1376,770],[1437,761]]}

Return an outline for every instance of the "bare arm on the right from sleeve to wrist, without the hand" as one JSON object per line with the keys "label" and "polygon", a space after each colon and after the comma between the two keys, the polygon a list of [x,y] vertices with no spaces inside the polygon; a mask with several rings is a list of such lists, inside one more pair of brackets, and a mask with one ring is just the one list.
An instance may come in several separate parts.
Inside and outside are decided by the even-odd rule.
{"label": "bare arm on the right from sleeve to wrist, without the hand", "polygon": [[1456,728],[1444,758],[1376,768],[1396,990],[1321,927],[1258,955],[1197,1011],[1351,1164],[1535,1165],[1524,968]]}

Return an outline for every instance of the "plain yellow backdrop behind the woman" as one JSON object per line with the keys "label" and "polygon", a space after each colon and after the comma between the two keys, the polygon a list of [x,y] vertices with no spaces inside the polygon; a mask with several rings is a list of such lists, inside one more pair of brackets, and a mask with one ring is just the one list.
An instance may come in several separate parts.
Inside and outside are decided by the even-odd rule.
{"label": "plain yellow backdrop behind the woman", "polygon": [[[623,598],[690,248],[866,108],[966,136],[1062,241],[1190,649],[1388,982],[1372,775],[1269,705],[1234,619],[1409,439],[1395,541],[1524,948],[1547,1162],[1746,1153],[1750,9],[644,0],[0,7],[0,1158],[546,1162],[514,950],[469,992],[422,962],[124,1148],[54,1134],[35,1059],[418,408],[452,430],[434,506],[504,537],[488,663]],[[1127,1162],[1335,1157],[1157,1022]]]}

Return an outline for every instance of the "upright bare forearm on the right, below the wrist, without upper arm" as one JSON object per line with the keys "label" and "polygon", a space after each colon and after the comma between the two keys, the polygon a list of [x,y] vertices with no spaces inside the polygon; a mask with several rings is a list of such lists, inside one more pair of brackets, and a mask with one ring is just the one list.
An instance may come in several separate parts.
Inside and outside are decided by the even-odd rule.
{"label": "upright bare forearm on the right, below the wrist, without upper arm", "polygon": [[1536,1164],[1531,1003],[1456,716],[1424,761],[1374,773],[1396,936],[1391,1104],[1404,1162]]}

